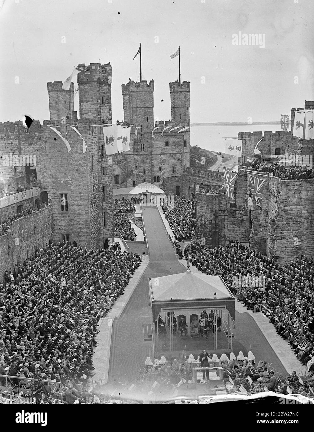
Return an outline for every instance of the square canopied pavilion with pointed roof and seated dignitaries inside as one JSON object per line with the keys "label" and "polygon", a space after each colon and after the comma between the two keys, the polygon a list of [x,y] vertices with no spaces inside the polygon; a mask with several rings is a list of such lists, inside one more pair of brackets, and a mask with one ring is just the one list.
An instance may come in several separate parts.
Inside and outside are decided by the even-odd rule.
{"label": "square canopied pavilion with pointed roof and seated dignitaries inside", "polygon": [[[220,276],[191,273],[188,268],[185,273],[149,278],[148,290],[155,358],[166,356],[171,361],[184,357],[185,353],[199,355],[203,349],[219,357],[232,351],[235,298]],[[192,324],[195,317],[200,318],[202,311],[213,314],[214,323],[221,320],[221,329],[212,326],[207,331],[207,338],[204,332],[198,334]],[[173,312],[171,315],[176,318],[176,329],[167,320],[168,312]],[[160,318],[166,331],[157,331]],[[185,332],[179,329],[182,318],[187,324]]]}

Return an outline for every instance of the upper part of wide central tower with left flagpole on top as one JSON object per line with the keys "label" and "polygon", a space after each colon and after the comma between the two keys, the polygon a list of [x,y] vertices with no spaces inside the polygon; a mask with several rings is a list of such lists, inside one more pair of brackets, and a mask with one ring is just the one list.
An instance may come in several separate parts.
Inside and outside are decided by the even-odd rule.
{"label": "upper part of wide central tower with left flagpole on top", "polygon": [[122,84],[124,121],[145,131],[154,126],[154,81]]}

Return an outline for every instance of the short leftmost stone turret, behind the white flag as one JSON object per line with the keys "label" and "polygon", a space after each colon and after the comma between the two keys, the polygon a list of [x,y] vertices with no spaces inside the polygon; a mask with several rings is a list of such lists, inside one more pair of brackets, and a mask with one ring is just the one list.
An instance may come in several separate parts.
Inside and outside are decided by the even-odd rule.
{"label": "short leftmost stone turret, behind the white flag", "polygon": [[62,117],[69,120],[74,110],[74,84],[71,83],[69,90],[63,90],[62,81],[54,81],[53,83],[47,83],[47,89],[50,120],[60,120]]}

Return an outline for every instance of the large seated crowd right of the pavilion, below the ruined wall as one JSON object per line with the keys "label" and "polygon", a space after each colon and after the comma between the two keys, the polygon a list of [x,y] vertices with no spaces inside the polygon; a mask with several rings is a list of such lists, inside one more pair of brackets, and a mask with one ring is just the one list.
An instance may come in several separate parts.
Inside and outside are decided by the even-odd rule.
{"label": "large seated crowd right of the pavilion, below the ruined wall", "polygon": [[304,365],[313,360],[313,258],[279,266],[275,260],[237,242],[214,249],[193,243],[185,248],[185,256],[203,273],[221,276],[248,308],[265,306],[262,312],[266,312],[280,336],[289,341],[295,356]]}

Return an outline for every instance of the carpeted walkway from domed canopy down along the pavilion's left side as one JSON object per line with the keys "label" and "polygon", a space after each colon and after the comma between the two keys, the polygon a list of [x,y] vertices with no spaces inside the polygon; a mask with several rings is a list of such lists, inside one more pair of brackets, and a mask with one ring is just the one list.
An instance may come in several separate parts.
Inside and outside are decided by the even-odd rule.
{"label": "carpeted walkway from domed canopy down along the pavilion's left side", "polygon": [[148,278],[185,272],[179,264],[155,207],[142,207],[150,263],[120,318],[113,323],[108,381],[132,380],[153,352],[153,343],[143,340],[142,324],[152,322],[148,306]]}

